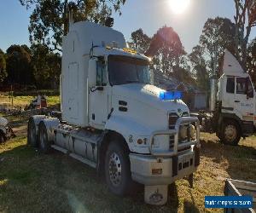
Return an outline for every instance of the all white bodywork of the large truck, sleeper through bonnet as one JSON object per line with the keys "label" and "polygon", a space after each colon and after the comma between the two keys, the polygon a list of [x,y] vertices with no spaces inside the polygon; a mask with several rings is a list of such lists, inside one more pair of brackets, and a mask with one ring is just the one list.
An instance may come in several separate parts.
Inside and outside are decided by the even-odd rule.
{"label": "all white bodywork of the large truck, sleeper through bonnet", "polygon": [[[113,41],[118,43],[119,48],[104,46],[111,45]],[[97,46],[93,53],[90,51],[92,43]],[[137,141],[140,137],[149,138],[156,130],[167,130],[169,112],[189,112],[183,101],[160,101],[159,93],[162,89],[153,85],[125,84],[112,87],[107,83],[103,91],[90,91],[93,84],[88,76],[95,79],[95,75],[88,71],[90,54],[103,56],[106,61],[108,55],[149,60],[144,55],[124,51],[125,45],[122,33],[111,28],[89,22],[73,24],[63,39],[61,73],[62,116],[68,124],[114,130],[123,135],[126,141],[129,141],[131,135]],[[119,112],[119,100],[128,102],[128,112]],[[108,119],[112,108],[112,116]],[[92,119],[93,115],[95,119]],[[160,145],[160,149],[167,149],[168,143],[168,136],[157,136],[155,139],[155,146]],[[148,153],[148,144],[137,147],[136,143],[132,143],[129,147],[131,151]]]}

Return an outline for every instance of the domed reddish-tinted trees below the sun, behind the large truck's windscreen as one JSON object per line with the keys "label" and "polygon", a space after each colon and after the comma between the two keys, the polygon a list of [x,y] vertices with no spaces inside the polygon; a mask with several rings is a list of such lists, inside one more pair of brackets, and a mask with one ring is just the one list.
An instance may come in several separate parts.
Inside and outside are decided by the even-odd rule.
{"label": "domed reddish-tinted trees below the sun, behind the large truck's windscreen", "polygon": [[131,48],[152,57],[151,68],[183,82],[194,82],[180,38],[172,27],[164,26],[150,38],[142,29],[131,33]]}

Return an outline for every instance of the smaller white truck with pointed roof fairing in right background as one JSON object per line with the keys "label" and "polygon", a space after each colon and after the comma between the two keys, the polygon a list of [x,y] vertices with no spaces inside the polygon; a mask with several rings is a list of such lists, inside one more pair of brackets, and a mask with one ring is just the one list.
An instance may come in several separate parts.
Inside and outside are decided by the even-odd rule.
{"label": "smaller white truck with pointed roof fairing in right background", "polygon": [[[217,89],[218,88],[218,89]],[[217,91],[218,90],[218,91]],[[228,50],[223,75],[211,81],[211,116],[200,115],[204,130],[215,132],[224,144],[237,145],[256,131],[256,93],[250,75]]]}

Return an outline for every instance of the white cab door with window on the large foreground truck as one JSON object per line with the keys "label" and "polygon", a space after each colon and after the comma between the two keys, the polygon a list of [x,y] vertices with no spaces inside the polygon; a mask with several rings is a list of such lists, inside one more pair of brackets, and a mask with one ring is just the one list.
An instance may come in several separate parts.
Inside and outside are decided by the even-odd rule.
{"label": "white cab door with window on the large foreground truck", "polygon": [[96,61],[96,87],[90,88],[90,126],[103,130],[108,120],[109,89],[107,67],[104,60]]}

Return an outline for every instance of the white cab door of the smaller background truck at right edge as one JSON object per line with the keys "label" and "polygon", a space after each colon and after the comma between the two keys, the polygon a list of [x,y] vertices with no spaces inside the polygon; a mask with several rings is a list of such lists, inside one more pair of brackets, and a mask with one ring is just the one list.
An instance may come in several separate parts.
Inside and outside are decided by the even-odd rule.
{"label": "white cab door of the smaller background truck at right edge", "polygon": [[249,77],[236,78],[235,108],[244,121],[253,121],[254,89]]}

